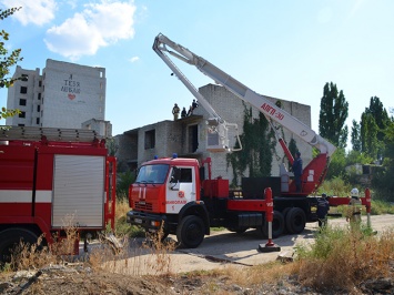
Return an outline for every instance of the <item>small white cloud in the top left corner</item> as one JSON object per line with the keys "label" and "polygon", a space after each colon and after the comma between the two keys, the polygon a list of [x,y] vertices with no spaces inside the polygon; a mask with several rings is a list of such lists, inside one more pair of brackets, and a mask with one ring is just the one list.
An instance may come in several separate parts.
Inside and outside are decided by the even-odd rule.
{"label": "small white cloud in the top left corner", "polygon": [[6,8],[22,7],[12,16],[23,26],[34,23],[42,26],[54,19],[57,4],[54,0],[2,0]]}

